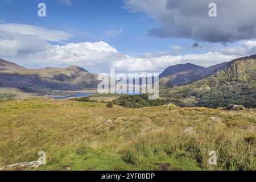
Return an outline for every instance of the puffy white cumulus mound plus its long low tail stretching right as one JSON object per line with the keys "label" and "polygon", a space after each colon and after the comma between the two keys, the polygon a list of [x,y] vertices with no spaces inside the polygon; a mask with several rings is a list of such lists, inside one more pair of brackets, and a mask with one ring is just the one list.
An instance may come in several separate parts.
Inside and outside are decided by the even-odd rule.
{"label": "puffy white cumulus mound plus its long low tail stretching right", "polygon": [[[119,53],[117,49],[105,42],[77,43],[65,46],[52,46],[45,51],[33,53],[22,61],[32,67],[61,67],[77,65],[93,72],[109,72],[110,68],[117,72],[161,72],[175,64],[194,63],[204,67],[236,59],[236,55],[224,55],[220,52],[205,54],[172,55],[171,53],[147,53],[129,56]],[[23,62],[25,64],[25,62]],[[23,65],[24,65],[23,64]]]}

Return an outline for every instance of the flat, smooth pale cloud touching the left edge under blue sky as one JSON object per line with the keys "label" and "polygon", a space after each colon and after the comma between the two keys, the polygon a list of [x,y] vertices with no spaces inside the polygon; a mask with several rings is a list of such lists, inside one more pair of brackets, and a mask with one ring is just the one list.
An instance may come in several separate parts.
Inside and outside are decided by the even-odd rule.
{"label": "flat, smooth pale cloud touching the left edge under blue sky", "polygon": [[28,24],[0,24],[0,56],[19,58],[24,53],[43,51],[51,47],[49,42],[61,43],[73,35],[64,31],[49,30]]}

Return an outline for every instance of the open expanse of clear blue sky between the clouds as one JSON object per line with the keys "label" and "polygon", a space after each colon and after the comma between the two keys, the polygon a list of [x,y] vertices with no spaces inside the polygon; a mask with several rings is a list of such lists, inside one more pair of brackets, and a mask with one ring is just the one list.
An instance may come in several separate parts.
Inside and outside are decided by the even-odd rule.
{"label": "open expanse of clear blue sky between the clouds", "polygon": [[[46,18],[37,15],[40,2],[46,3]],[[0,17],[8,23],[32,24],[75,34],[67,42],[108,42],[129,55],[168,51],[172,44],[185,44],[184,40],[148,36],[148,30],[159,23],[143,13],[129,13],[123,5],[121,0],[75,0],[71,6],[58,0],[2,1]],[[106,30],[119,28],[123,28],[123,32],[118,38],[104,34]]]}

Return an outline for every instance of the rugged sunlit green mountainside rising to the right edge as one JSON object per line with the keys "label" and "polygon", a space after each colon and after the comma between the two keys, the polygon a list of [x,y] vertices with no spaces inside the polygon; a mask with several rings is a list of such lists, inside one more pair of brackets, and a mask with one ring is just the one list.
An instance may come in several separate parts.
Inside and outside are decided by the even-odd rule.
{"label": "rugged sunlit green mountainside rising to the right edge", "polygon": [[241,57],[220,67],[224,68],[208,77],[165,90],[165,96],[181,106],[256,107],[256,55]]}

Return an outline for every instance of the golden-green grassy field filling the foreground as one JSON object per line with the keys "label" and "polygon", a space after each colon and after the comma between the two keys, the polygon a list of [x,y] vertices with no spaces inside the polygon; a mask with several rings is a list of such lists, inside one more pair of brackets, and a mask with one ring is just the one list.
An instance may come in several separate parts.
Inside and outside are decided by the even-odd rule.
{"label": "golden-green grassy field filling the foreground", "polygon": [[253,110],[15,99],[0,103],[0,168],[38,160],[43,150],[46,165],[5,169],[255,170],[255,131]]}

